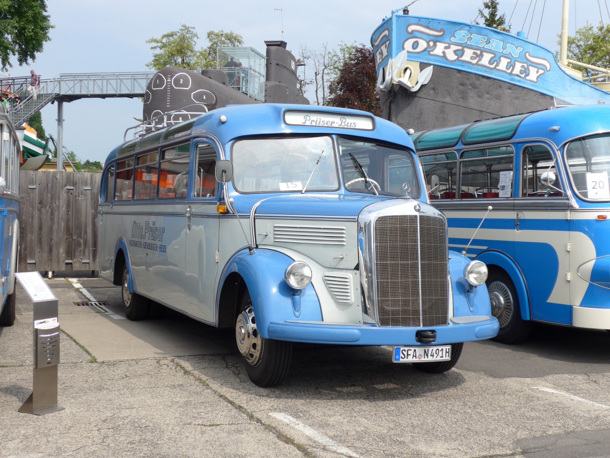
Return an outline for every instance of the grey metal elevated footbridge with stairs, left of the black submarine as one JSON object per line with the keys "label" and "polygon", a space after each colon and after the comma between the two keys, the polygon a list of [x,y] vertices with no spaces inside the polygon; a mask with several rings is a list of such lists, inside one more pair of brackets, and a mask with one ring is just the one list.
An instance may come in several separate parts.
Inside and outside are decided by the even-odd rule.
{"label": "grey metal elevated footbridge with stairs, left of the black submarine", "polygon": [[[143,97],[154,71],[140,73],[61,73],[43,79],[34,95],[27,93],[30,77],[0,79],[0,92],[9,96],[9,115],[20,126],[46,104],[80,98]],[[16,96],[20,103],[16,103]]]}

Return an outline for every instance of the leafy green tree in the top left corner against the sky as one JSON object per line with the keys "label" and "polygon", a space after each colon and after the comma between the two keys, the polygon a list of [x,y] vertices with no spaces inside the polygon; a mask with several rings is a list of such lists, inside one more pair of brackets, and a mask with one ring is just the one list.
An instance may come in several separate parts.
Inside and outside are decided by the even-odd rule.
{"label": "leafy green tree in the top left corner against the sky", "polygon": [[26,65],[41,53],[51,40],[54,27],[46,15],[45,0],[0,0],[0,68],[8,70],[12,56],[19,65]]}

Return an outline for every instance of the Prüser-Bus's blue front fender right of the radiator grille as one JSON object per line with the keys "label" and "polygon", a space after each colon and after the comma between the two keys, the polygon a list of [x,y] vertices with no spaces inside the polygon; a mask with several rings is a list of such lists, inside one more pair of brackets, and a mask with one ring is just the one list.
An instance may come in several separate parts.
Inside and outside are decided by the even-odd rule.
{"label": "Pr\u00fcser-Bus's blue front fender right of the radiator grille", "polygon": [[449,272],[453,290],[453,316],[491,316],[487,286],[473,287],[464,278],[464,267],[470,263],[467,256],[449,252]]}

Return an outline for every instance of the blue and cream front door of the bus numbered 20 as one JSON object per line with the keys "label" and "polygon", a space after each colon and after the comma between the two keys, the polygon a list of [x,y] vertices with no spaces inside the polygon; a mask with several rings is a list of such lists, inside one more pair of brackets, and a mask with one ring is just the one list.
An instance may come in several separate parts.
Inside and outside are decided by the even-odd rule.
{"label": "blue and cream front door of the bus numbered 20", "polygon": [[525,144],[515,198],[515,260],[525,277],[531,318],[572,324],[569,199],[554,149]]}

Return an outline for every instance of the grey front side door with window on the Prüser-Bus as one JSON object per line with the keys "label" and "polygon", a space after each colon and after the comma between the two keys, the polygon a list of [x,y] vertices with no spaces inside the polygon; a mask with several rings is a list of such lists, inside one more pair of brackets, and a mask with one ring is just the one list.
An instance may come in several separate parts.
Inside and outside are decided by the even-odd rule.
{"label": "grey front side door with window on the Pr\u00fcser-Bus", "polygon": [[186,219],[184,288],[188,310],[215,323],[215,280],[218,271],[219,184],[215,178],[217,151],[207,143],[195,148],[192,171],[193,198]]}

